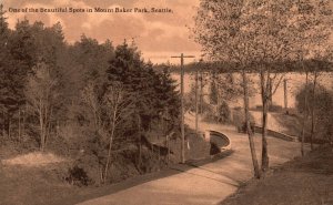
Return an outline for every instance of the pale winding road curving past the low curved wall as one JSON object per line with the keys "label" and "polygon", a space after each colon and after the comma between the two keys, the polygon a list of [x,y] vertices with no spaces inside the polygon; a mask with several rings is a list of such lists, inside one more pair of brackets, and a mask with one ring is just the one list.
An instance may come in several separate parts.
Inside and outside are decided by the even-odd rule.
{"label": "pale winding road curving past the low curved wall", "polygon": [[[186,115],[186,124],[193,126],[192,115]],[[209,205],[221,202],[253,175],[248,136],[236,133],[233,127],[216,124],[201,123],[200,130],[215,130],[226,134],[231,139],[234,153],[213,163],[184,170],[179,174],[90,199],[80,205]],[[259,154],[259,135],[255,137],[255,144]],[[271,165],[292,160],[300,154],[299,150],[300,144],[296,142],[269,137]]]}

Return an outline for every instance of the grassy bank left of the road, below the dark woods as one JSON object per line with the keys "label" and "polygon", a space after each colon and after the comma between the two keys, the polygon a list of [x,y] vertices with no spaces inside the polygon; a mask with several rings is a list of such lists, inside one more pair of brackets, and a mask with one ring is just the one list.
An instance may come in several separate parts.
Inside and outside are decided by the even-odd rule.
{"label": "grassy bank left of the road, below the dark woods", "polygon": [[[189,158],[202,158],[209,154],[209,146],[202,139],[189,135],[191,152],[186,153]],[[174,144],[180,148],[180,140]],[[201,147],[201,148],[198,148]],[[2,153],[8,147],[2,148]],[[13,153],[0,153],[0,160],[3,156],[16,155]],[[175,151],[175,156],[179,151]],[[1,161],[0,161],[1,162]],[[137,175],[111,185],[101,187],[88,186],[78,187],[69,185],[63,178],[67,176],[68,163],[54,163],[46,166],[27,167],[27,166],[9,166],[0,164],[0,205],[67,205],[75,204],[89,198],[107,195],[120,189],[131,187],[143,182],[168,176],[179,173],[165,168],[161,172],[149,173],[145,175]],[[119,182],[119,181],[117,181]]]}

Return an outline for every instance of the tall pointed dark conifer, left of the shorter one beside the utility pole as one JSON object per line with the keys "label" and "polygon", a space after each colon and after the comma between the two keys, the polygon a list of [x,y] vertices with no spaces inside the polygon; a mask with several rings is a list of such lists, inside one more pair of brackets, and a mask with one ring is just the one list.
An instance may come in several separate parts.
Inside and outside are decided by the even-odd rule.
{"label": "tall pointed dark conifer, left of the shorter one beside the utility pole", "polygon": [[153,72],[150,63],[141,60],[137,47],[127,42],[117,47],[114,60],[110,61],[107,70],[109,83],[122,83],[124,89],[131,93],[132,101],[142,119],[145,130],[151,127],[151,122],[157,116],[154,84],[158,75]]}

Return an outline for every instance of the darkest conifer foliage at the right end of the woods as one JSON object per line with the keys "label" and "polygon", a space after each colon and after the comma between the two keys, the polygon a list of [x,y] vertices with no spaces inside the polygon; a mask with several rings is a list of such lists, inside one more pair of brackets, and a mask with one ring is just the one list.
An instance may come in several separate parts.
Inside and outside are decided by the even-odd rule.
{"label": "darkest conifer foliage at the right end of the woods", "polygon": [[161,117],[163,112],[178,119],[179,96],[169,71],[155,73],[151,63],[141,60],[135,45],[127,42],[119,45],[107,73],[109,82],[121,82],[131,93],[144,130],[149,130],[152,121]]}

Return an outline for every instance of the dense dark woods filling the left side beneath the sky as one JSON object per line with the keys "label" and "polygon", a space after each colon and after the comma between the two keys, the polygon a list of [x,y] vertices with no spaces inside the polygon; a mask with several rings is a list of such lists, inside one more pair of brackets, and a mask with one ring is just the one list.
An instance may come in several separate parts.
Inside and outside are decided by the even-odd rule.
{"label": "dense dark woods filling the left side beneath the sky", "polygon": [[105,182],[114,161],[139,162],[140,137],[159,129],[155,124],[165,133],[179,130],[180,98],[170,65],[157,72],[134,42],[114,48],[83,34],[68,44],[60,23],[28,20],[11,30],[1,6],[0,45],[2,139],[24,146],[36,140],[41,150],[74,156],[84,167],[70,171],[72,181],[85,185],[89,176],[99,183],[102,175]]}

